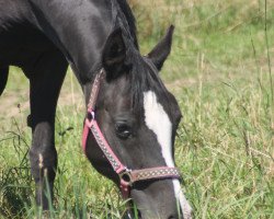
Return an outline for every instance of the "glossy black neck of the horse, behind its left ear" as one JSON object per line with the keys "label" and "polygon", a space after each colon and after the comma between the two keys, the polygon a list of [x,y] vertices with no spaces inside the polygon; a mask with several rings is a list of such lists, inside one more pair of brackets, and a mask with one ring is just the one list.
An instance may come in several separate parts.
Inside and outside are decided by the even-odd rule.
{"label": "glossy black neck of the horse, behind its left ear", "polygon": [[81,85],[90,81],[113,25],[109,1],[32,3],[35,25],[62,51]]}

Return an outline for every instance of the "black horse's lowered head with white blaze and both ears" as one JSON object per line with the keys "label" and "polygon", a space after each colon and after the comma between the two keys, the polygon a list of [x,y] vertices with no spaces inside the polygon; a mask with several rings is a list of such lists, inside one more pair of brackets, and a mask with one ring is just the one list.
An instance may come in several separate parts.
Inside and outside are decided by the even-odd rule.
{"label": "black horse's lowered head with white blaze and both ears", "polygon": [[[174,169],[174,139],[182,115],[175,97],[159,77],[171,50],[172,33],[173,26],[148,56],[141,56],[122,28],[113,31],[102,50],[103,73],[90,110],[94,110],[90,112],[94,115],[87,118],[88,123],[96,120],[100,134],[95,135],[101,136],[96,139],[87,135],[88,159],[117,186],[126,181],[128,198],[137,206],[139,218],[191,218],[191,207]],[[111,151],[102,149],[104,143],[100,148],[101,141]],[[116,170],[111,160],[123,163],[123,170]],[[123,174],[124,169],[127,174]],[[159,177],[133,181],[137,177],[134,173],[142,170],[145,175]],[[158,174],[159,170],[168,173]]]}

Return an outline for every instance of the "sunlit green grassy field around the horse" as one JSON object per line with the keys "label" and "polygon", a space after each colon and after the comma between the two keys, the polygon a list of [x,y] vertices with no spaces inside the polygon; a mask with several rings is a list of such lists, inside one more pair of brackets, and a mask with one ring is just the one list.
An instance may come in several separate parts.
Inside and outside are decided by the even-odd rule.
{"label": "sunlit green grassy field around the horse", "polygon": [[[195,218],[274,218],[274,2],[130,0],[142,54],[175,25],[161,72],[183,113],[175,160]],[[39,218],[28,169],[28,81],[0,97],[0,218]],[[59,99],[59,169],[49,218],[121,218],[124,203],[81,150],[83,97],[71,70]]]}

